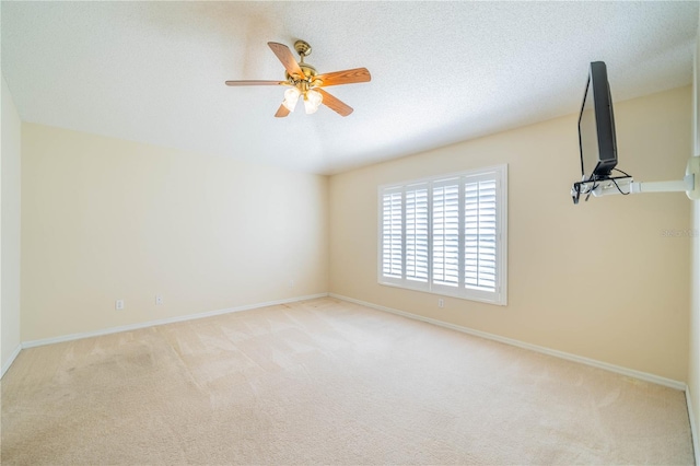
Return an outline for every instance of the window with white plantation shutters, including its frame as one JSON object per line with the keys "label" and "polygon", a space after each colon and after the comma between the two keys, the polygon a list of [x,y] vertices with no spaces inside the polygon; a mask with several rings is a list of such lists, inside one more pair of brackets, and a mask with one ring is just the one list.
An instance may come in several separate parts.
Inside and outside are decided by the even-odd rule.
{"label": "window with white plantation shutters, including its frame", "polygon": [[508,166],[380,187],[382,284],[506,303]]}

